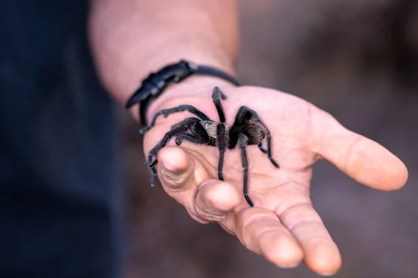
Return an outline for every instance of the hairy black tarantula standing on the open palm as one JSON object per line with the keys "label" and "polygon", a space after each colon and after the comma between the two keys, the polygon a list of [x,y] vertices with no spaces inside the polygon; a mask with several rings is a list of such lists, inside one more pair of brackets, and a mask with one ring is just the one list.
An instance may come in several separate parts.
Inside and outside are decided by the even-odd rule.
{"label": "hairy black tarantula standing on the open palm", "polygon": [[[173,113],[183,111],[189,111],[189,113],[196,115],[196,117],[187,117],[182,122],[171,126],[171,130],[164,135],[164,138],[162,138],[153,149],[150,150],[148,154],[148,167],[153,175],[151,186],[155,186],[157,183],[157,170],[155,169],[155,165],[158,163],[156,157],[157,153],[167,145],[169,140],[173,137],[176,137],[177,145],[180,145],[183,140],[186,140],[196,144],[217,147],[219,149],[217,172],[218,178],[221,181],[224,180],[222,169],[224,167],[225,151],[226,149],[233,149],[238,145],[241,150],[242,168],[244,169],[244,197],[249,206],[254,206],[254,203],[248,197],[248,159],[245,147],[247,145],[258,145],[261,152],[268,155],[268,158],[274,167],[279,168],[279,165],[272,158],[272,136],[267,126],[265,126],[260,117],[258,117],[258,114],[246,106],[240,107],[235,116],[233,125],[228,126],[225,122],[224,108],[222,108],[221,99],[226,99],[226,95],[224,95],[219,88],[215,87],[212,93],[212,101],[215,104],[219,115],[219,122],[210,120],[207,115],[194,106],[180,105],[178,107],[158,111],[155,113],[150,125],[139,131],[145,133],[151,129],[160,115],[168,117]],[[264,138],[267,138],[267,149],[263,149],[262,147]]]}

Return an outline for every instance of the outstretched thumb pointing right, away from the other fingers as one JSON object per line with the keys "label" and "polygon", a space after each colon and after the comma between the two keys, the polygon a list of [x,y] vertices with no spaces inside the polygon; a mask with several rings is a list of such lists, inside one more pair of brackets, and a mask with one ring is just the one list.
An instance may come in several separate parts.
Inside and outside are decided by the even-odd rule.
{"label": "outstretched thumb pointing right, away from the other fingers", "polygon": [[397,190],[405,185],[403,162],[377,142],[349,131],[329,114],[312,116],[311,150],[371,188]]}

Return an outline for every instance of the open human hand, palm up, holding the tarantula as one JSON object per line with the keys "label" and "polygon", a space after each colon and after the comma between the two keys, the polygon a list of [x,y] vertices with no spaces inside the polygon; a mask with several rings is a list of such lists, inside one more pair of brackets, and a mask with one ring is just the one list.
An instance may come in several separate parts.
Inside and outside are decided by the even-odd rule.
{"label": "open human hand, palm up, holding the tarantula", "polygon": [[[199,91],[171,94],[154,106],[189,104],[219,121],[211,94],[215,85]],[[259,87],[219,85],[226,122],[232,124],[240,106],[260,115],[272,133],[275,168],[257,146],[248,146],[250,208],[242,196],[242,165],[238,147],[226,151],[224,179],[217,179],[219,152],[215,147],[173,142],[157,155],[157,171],[166,192],[201,223],[217,222],[245,247],[272,263],[293,267],[304,261],[320,275],[339,270],[339,250],[311,204],[311,166],[325,158],[350,177],[378,190],[397,190],[408,179],[405,165],[387,149],[345,129],[331,115],[284,92]],[[163,94],[164,96],[164,94]],[[187,112],[159,117],[144,138],[146,154]],[[193,116],[193,115],[192,115]],[[148,118],[148,122],[149,119]],[[174,145],[174,146],[173,146]]]}

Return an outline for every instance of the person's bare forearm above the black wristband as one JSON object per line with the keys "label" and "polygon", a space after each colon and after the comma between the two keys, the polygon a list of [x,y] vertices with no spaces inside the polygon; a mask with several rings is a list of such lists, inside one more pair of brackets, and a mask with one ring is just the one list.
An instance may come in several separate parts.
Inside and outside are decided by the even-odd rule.
{"label": "person's bare forearm above the black wristband", "polygon": [[237,17],[235,0],[95,0],[89,31],[100,79],[125,104],[150,72],[180,59],[234,74]]}

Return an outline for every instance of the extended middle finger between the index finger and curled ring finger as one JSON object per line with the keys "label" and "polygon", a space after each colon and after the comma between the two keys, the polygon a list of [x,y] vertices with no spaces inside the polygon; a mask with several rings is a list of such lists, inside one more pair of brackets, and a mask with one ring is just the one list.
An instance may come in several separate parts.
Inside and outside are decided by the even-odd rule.
{"label": "extended middle finger between the index finger and curled ring finger", "polygon": [[297,240],[268,209],[242,209],[236,215],[235,227],[231,227],[233,221],[225,222],[245,247],[281,268],[293,268],[303,259]]}

